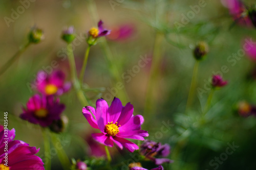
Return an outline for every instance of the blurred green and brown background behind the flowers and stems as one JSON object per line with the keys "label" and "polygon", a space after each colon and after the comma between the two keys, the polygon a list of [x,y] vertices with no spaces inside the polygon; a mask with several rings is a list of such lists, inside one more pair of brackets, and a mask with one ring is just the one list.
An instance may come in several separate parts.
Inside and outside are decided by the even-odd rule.
{"label": "blurred green and brown background behind the flowers and stems", "polygon": [[[231,66],[227,62],[227,57],[242,48],[245,37],[256,40],[256,32],[253,28],[241,26],[235,26],[230,30],[229,26],[233,21],[221,2],[205,2],[206,7],[201,8],[200,13],[178,33],[174,22],[181,22],[181,14],[190,11],[190,5],[198,5],[198,1],[124,0],[119,6],[115,6],[114,10],[109,1],[95,1],[97,15],[104,21],[105,28],[113,29],[123,24],[134,27],[133,34],[125,40],[107,38],[120,77],[127,69],[138,65],[140,56],[153,56],[158,30],[166,33],[160,45],[162,59],[155,79],[156,86],[152,96],[154,106],[151,112],[143,113],[151,63],[141,68],[129,83],[125,83],[125,90],[129,101],[135,107],[135,114],[144,116],[143,129],[149,131],[149,138],[152,139],[153,136],[157,141],[169,143],[172,148],[175,148],[177,143],[180,145],[179,150],[176,150],[179,156],[169,156],[175,159],[175,163],[165,167],[187,170],[213,169],[209,161],[219,157],[225,152],[227,143],[234,141],[239,145],[239,149],[228,156],[218,169],[255,169],[256,119],[252,116],[240,117],[233,110],[234,105],[242,100],[256,104],[255,80],[247,79],[254,63],[243,56],[236,65]],[[252,4],[254,1],[246,2]],[[95,16],[95,13],[89,11],[92,4],[92,1],[35,1],[18,19],[10,23],[10,27],[7,27],[4,17],[10,17],[11,9],[16,11],[21,4],[19,1],[0,1],[0,66],[8,61],[21,44],[27,42],[27,33],[32,26],[36,25],[43,29],[46,36],[41,43],[31,45],[0,77],[0,110],[3,118],[4,111],[8,111],[9,129],[15,128],[16,139],[40,147],[38,155],[44,153],[40,128],[18,117],[22,113],[21,106],[36,92],[30,92],[27,83],[34,81],[37,71],[49,66],[53,60],[58,61],[58,68],[65,71],[70,80],[68,60],[61,61],[58,57],[58,52],[66,47],[66,43],[60,39],[61,31],[63,27],[73,25],[78,35],[86,35],[91,27],[96,26],[91,17]],[[170,43],[170,39],[180,45]],[[209,123],[202,126],[198,125],[198,119],[208,94],[204,93],[202,98],[197,98],[193,109],[184,114],[195,63],[192,50],[200,40],[208,42],[210,52],[207,58],[200,62],[198,87],[203,88],[204,80],[211,77],[212,71],[221,70],[223,65],[229,69],[223,74],[229,84],[214,94],[212,107],[207,113]],[[78,70],[86,47],[86,41],[83,40],[74,49]],[[111,80],[110,70],[100,45],[91,48],[85,81],[91,88],[105,89],[98,95],[88,93],[93,104],[97,98],[104,98],[104,95],[109,93],[108,88],[115,87],[116,82]],[[62,134],[69,141],[64,148],[70,158],[83,159],[89,152],[88,145],[83,139],[92,133],[92,128],[81,114],[83,106],[77,100],[73,89],[60,99],[66,104],[64,114],[69,117],[68,128]],[[121,98],[121,101],[124,100]],[[173,127],[159,137],[156,134],[163,126],[163,121],[172,122]],[[116,149],[113,148],[113,151]],[[53,162],[52,168],[59,168],[56,156]]]}

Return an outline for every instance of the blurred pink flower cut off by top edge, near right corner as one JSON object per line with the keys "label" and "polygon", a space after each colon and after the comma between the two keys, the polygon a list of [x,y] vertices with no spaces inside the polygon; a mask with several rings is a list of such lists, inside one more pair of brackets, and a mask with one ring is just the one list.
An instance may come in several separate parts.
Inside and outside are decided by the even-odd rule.
{"label": "blurred pink flower cut off by top edge, near right corner", "polygon": [[224,6],[229,9],[230,15],[239,25],[252,26],[247,9],[240,0],[222,0]]}

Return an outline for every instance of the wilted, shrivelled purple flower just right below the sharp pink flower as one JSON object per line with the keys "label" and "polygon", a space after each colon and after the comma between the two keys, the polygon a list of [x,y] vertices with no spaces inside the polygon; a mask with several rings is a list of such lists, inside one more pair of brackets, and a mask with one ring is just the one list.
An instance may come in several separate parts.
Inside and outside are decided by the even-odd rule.
{"label": "wilted, shrivelled purple flower just right below the sharp pink flower", "polygon": [[140,153],[144,155],[146,158],[152,160],[157,165],[161,165],[163,163],[173,163],[173,160],[168,158],[155,158],[155,156],[166,157],[170,153],[169,144],[161,144],[159,142],[155,142],[152,140],[145,140],[140,145]]}

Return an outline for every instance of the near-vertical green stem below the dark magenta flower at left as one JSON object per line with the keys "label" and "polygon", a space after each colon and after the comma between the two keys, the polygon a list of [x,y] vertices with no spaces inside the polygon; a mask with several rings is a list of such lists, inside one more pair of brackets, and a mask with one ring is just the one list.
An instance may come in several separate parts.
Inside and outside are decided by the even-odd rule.
{"label": "near-vertical green stem below the dark magenta flower at left", "polygon": [[45,150],[45,158],[48,158],[47,161],[45,161],[45,169],[51,170],[51,157],[48,157],[50,155],[50,140],[47,135],[47,130],[42,128],[42,137],[44,138],[44,150]]}

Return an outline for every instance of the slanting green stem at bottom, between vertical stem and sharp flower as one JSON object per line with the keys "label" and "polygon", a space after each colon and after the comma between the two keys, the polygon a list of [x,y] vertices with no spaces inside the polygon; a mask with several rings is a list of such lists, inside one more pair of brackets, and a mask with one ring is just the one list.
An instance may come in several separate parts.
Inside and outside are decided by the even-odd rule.
{"label": "slanting green stem at bottom, between vertical stem and sharp flower", "polygon": [[69,170],[71,167],[71,163],[69,160],[69,157],[67,156],[66,152],[63,150],[63,147],[61,145],[61,142],[56,134],[51,133],[52,142],[54,145],[54,148],[57,151],[57,156],[59,158],[59,161],[65,170]]}

